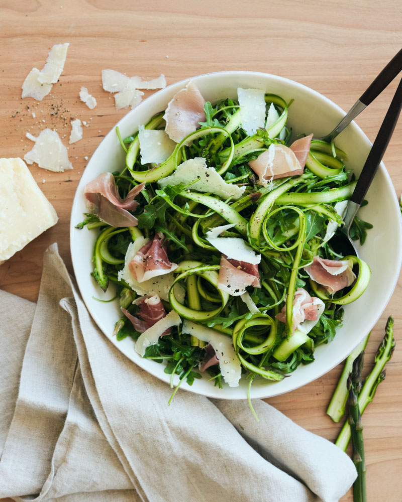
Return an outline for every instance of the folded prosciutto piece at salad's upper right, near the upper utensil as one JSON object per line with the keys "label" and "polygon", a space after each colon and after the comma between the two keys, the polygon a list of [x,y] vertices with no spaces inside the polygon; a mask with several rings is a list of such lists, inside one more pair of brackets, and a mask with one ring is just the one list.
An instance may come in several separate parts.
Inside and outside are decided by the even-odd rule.
{"label": "folded prosciutto piece at salad's upper right, near the upper utensil", "polygon": [[300,138],[289,147],[272,143],[265,152],[248,165],[259,176],[258,183],[267,186],[272,180],[300,176],[304,172],[313,135]]}

